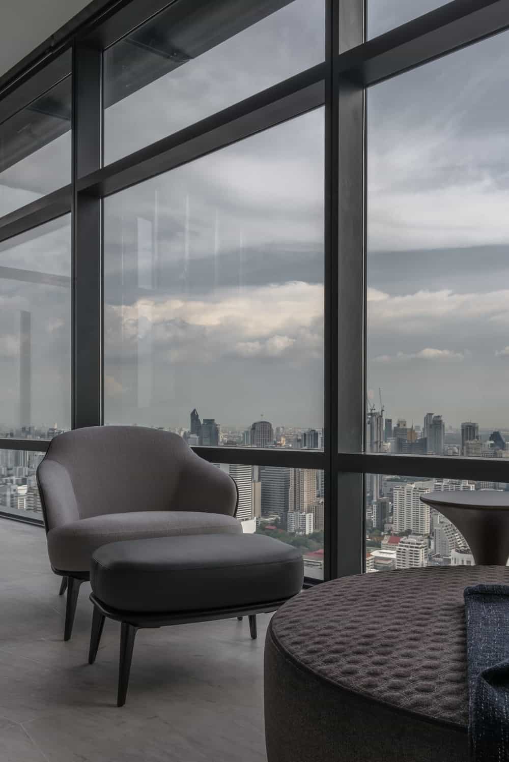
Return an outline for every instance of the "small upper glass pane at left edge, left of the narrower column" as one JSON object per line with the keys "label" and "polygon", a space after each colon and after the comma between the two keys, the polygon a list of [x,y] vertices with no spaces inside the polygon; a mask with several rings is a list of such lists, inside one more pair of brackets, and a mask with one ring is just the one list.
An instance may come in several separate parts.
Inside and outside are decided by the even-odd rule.
{"label": "small upper glass pane at left edge, left of the narrower column", "polygon": [[0,216],[71,182],[71,78],[0,125]]}

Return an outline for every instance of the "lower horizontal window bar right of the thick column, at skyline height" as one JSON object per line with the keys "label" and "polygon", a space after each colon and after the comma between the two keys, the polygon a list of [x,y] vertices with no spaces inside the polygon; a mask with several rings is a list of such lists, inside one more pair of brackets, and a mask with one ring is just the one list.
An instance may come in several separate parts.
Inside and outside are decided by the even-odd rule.
{"label": "lower horizontal window bar right of the thick column, at skyline height", "polygon": [[436,479],[473,479],[507,482],[505,458],[466,458],[450,455],[395,455],[392,453],[339,453],[338,471]]}

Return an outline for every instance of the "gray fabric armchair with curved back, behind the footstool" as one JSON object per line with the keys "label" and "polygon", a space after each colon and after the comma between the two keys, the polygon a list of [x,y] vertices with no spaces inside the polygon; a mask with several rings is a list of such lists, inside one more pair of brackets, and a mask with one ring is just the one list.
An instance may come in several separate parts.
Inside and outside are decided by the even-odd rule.
{"label": "gray fabric armchair with curved back, behind the footstool", "polygon": [[237,486],[177,434],[97,426],[60,434],[37,469],[48,553],[67,589],[64,639],[91,555],[123,539],[236,533]]}

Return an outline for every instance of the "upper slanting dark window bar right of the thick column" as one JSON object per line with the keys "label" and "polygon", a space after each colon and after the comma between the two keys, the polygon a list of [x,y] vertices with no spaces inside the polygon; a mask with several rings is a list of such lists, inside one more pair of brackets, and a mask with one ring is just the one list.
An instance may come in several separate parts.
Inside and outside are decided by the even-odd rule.
{"label": "upper slanting dark window bar right of the thick column", "polygon": [[342,53],[339,72],[369,87],[509,28],[509,3],[453,0]]}

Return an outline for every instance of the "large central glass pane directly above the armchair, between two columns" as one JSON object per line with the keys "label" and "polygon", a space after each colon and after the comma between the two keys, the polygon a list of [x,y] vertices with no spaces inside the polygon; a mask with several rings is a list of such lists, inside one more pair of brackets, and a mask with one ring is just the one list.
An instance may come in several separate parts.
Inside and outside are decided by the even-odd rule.
{"label": "large central glass pane directly above the armchair, between two columns", "polygon": [[319,109],[104,201],[106,423],[319,443],[323,141]]}

